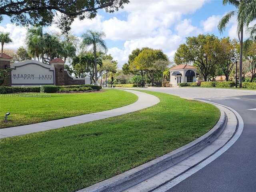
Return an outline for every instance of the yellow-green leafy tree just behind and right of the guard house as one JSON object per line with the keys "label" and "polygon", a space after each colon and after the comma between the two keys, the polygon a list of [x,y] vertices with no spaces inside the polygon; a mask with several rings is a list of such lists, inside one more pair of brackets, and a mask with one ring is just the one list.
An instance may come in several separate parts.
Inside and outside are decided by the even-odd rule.
{"label": "yellow-green leafy tree just behind and right of the guard house", "polygon": [[213,50],[216,44],[216,36],[199,34],[197,37],[187,37],[186,44],[181,44],[174,54],[174,62],[177,65],[187,62],[194,62],[198,67],[204,81],[207,81],[209,74],[214,70],[218,62]]}

